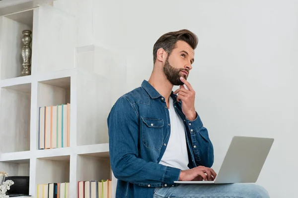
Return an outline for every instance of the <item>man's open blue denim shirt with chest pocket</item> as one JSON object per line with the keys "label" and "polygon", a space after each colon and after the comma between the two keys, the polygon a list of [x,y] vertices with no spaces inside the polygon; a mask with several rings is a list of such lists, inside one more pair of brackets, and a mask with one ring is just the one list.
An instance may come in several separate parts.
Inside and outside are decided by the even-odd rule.
{"label": "man's open blue denim shirt with chest pocket", "polygon": [[[195,120],[186,119],[181,101],[173,92],[171,97],[184,120],[188,167],[211,167],[213,145],[198,113]],[[111,168],[118,179],[116,198],[152,198],[155,187],[175,185],[181,170],[159,164],[170,137],[169,111],[148,81],[115,102],[107,123]]]}

